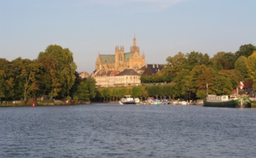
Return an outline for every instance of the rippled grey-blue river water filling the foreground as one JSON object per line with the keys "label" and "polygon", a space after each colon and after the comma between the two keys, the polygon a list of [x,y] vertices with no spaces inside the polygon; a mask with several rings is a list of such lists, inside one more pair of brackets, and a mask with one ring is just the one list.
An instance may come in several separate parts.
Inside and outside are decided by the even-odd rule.
{"label": "rippled grey-blue river water filling the foreground", "polygon": [[0,108],[0,157],[254,157],[256,109]]}

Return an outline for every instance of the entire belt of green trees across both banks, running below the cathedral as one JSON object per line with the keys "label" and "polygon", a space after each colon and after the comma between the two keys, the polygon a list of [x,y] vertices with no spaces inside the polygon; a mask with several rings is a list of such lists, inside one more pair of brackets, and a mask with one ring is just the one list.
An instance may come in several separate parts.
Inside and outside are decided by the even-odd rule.
{"label": "entire belt of green trees across both banks, running below the cathedral", "polygon": [[0,59],[0,101],[73,99],[116,101],[125,94],[140,99],[203,99],[208,93],[230,94],[239,82],[254,82],[256,89],[256,47],[242,45],[236,53],[178,53],[166,58],[164,69],[153,76],[147,71],[142,86],[96,88],[93,78],[82,80],[68,48],[50,45],[38,59]]}

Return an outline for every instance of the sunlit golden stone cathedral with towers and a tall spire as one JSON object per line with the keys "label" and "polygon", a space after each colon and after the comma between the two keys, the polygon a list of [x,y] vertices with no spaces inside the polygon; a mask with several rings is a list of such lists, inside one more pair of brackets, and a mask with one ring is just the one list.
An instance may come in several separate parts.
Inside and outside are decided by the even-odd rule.
{"label": "sunlit golden stone cathedral with towers and a tall spire", "polygon": [[123,46],[115,47],[115,54],[99,54],[96,59],[96,71],[124,71],[133,69],[137,71],[145,65],[145,54],[140,54],[136,37],[133,38],[133,46],[130,52],[125,53]]}

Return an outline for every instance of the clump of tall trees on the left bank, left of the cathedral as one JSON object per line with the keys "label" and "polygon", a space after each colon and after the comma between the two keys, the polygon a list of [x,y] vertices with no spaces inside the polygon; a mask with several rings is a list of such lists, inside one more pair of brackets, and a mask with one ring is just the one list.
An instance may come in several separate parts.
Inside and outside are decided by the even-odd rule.
{"label": "clump of tall trees on the left bank, left of the cathedral", "polygon": [[[0,59],[0,101],[38,99],[90,100],[96,95],[96,82],[80,80],[68,48],[50,45],[38,59]],[[84,95],[84,93],[86,95]]]}

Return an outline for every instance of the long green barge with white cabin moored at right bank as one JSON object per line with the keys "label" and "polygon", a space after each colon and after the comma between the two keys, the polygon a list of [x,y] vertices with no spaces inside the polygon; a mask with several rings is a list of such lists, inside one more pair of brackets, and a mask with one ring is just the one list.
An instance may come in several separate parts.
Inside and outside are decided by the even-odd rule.
{"label": "long green barge with white cabin moored at right bank", "polygon": [[222,108],[251,108],[251,100],[247,98],[232,98],[228,95],[208,95],[204,100],[205,107],[222,107]]}

